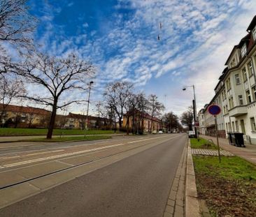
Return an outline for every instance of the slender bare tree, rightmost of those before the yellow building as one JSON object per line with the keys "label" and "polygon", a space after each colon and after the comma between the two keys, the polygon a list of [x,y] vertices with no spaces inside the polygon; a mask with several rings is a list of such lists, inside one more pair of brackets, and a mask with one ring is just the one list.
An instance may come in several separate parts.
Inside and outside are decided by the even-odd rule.
{"label": "slender bare tree, rightmost of those before the yellow building", "polygon": [[150,133],[152,132],[152,125],[153,125],[153,118],[158,117],[162,110],[164,110],[164,105],[159,102],[157,99],[157,96],[154,94],[151,94],[148,97],[148,109],[151,116],[151,124],[150,124]]}

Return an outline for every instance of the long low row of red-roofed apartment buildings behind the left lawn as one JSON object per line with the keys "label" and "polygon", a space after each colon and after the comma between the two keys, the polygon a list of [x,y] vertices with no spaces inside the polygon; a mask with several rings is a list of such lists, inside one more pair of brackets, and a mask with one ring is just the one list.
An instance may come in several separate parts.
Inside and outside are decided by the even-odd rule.
{"label": "long low row of red-roofed apartment buildings behind the left lawn", "polygon": [[[47,128],[51,112],[36,107],[20,105],[0,104],[1,126],[10,128]],[[76,128],[84,129],[87,119],[88,128],[114,128],[113,121],[102,117],[88,116],[84,114],[68,115],[57,114],[55,128]]]}

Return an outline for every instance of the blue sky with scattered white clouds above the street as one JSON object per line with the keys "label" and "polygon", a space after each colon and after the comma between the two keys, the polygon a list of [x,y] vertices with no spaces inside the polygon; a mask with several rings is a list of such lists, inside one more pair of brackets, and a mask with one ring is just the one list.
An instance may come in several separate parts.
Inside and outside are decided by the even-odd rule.
{"label": "blue sky with scattered white clouds above the street", "polygon": [[96,66],[91,113],[106,84],[115,81],[156,94],[166,112],[178,115],[192,105],[193,90],[183,87],[194,84],[199,111],[213,98],[232,47],[256,15],[255,0],[29,0],[28,5],[38,18],[35,38],[42,50],[60,57],[74,52]]}

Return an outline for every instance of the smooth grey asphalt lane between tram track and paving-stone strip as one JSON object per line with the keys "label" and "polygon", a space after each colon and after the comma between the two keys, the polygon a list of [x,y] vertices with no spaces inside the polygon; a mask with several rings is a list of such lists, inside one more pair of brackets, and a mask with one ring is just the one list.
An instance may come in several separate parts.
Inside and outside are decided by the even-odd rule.
{"label": "smooth grey asphalt lane between tram track and paving-stone strip", "polygon": [[[166,141],[166,140],[165,140]],[[186,135],[0,210],[0,216],[147,216],[164,213]]]}

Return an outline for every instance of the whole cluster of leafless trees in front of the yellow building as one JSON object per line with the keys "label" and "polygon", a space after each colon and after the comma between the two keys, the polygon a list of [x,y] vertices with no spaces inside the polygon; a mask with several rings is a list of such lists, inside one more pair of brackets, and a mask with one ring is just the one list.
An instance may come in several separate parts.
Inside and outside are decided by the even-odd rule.
{"label": "whole cluster of leafless trees in front of the yellow building", "polygon": [[[134,93],[134,85],[130,82],[114,82],[106,87],[104,93],[106,99],[106,110],[116,117],[120,129],[131,128],[132,133],[140,130],[143,132],[143,119],[145,114],[150,115],[151,128],[154,118],[160,117],[164,105],[159,102],[156,95],[145,96],[144,93]],[[126,125],[122,126],[123,119],[127,119]],[[131,126],[130,126],[130,123]]]}

